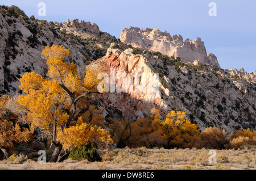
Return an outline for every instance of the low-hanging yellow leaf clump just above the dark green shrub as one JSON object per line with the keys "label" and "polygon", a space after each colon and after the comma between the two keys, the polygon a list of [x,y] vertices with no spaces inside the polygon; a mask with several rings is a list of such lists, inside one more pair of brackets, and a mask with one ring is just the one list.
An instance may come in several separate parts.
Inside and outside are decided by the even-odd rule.
{"label": "low-hanging yellow leaf clump just above the dark green shrub", "polygon": [[80,117],[77,123],[81,124],[65,129],[64,134],[62,132],[58,133],[57,138],[63,143],[64,149],[71,149],[75,146],[80,147],[89,142],[98,146],[106,146],[113,143],[108,131],[97,125],[82,122]]}

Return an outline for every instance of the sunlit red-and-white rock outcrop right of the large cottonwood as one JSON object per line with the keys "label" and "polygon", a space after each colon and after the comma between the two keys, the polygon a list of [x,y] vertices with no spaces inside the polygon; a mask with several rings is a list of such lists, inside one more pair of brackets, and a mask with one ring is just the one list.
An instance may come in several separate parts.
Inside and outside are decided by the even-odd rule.
{"label": "sunlit red-and-white rock outcrop right of the large cottonwood", "polygon": [[[154,68],[151,64],[147,64],[142,55],[133,54],[133,49],[126,49],[121,52],[121,50],[113,48],[113,45],[110,45],[106,56],[93,62],[89,67],[94,69],[103,68],[109,74],[109,78],[111,78],[110,69],[114,69],[115,77],[117,73],[124,73],[125,78],[128,78],[129,73],[154,74]],[[114,81],[114,86],[117,86],[119,79],[115,78]],[[154,86],[161,85],[159,79],[151,79],[150,81],[149,83],[147,77],[142,76],[138,87],[135,87],[134,82],[131,85],[133,91],[130,91],[130,86],[127,86],[126,92],[125,90],[122,92],[115,90],[113,94],[101,95],[105,108],[118,108],[123,112],[124,118],[129,120],[141,117],[143,113],[149,113],[153,107],[159,107],[162,102],[160,92],[143,92],[144,86],[149,84],[151,87],[147,87],[147,89],[154,89]],[[138,89],[138,91],[135,91],[135,89]],[[154,94],[154,99],[152,99],[151,94]],[[111,112],[111,110],[108,111]]]}

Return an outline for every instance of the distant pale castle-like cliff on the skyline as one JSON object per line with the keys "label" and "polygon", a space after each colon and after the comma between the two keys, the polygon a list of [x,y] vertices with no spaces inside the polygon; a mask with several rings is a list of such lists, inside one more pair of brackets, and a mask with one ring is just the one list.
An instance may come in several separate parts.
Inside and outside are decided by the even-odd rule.
{"label": "distant pale castle-like cliff on the skyline", "polygon": [[204,47],[204,42],[200,37],[195,40],[183,41],[182,36],[171,36],[166,31],[159,31],[158,28],[139,28],[130,27],[123,29],[120,40],[125,44],[131,44],[134,47],[144,48],[155,52],[161,52],[168,56],[180,57],[183,62],[193,62],[199,60],[201,64],[218,64],[217,57],[210,53],[207,56],[207,51]]}

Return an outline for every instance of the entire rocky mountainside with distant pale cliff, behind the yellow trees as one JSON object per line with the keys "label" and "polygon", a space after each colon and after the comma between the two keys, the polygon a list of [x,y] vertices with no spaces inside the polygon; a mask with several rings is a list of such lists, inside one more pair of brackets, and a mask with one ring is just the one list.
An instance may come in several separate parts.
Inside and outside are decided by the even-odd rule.
{"label": "entire rocky mountainside with distant pale cliff, behind the yellow trees", "polygon": [[[46,45],[57,44],[70,50],[71,54],[65,61],[75,62],[80,73],[86,65],[104,68],[108,73],[110,68],[115,68],[116,73],[159,73],[159,80],[152,80],[160,90],[156,99],[149,99],[147,93],[140,92],[100,96],[98,104],[104,107],[106,116],[121,111],[124,119],[134,120],[147,116],[153,107],[159,109],[161,116],[177,109],[187,112],[187,119],[201,130],[209,126],[228,131],[255,130],[255,74],[220,69],[216,56],[207,56],[204,43],[199,38],[183,41],[181,36],[170,36],[156,28],[130,28],[122,32],[120,40],[124,43],[101,32],[96,24],[90,22],[75,19],[53,23],[22,14],[15,18],[2,7],[0,92],[21,94],[18,79],[25,72],[35,71],[44,75],[47,67],[41,57],[42,50]],[[187,63],[158,52],[179,56]],[[143,82],[142,79],[140,85]]]}

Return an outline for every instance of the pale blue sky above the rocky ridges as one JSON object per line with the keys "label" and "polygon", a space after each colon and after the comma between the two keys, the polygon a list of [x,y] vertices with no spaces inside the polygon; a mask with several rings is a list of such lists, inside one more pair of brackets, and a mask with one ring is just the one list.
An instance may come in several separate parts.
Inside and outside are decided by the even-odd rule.
{"label": "pale blue sky above the rocky ridges", "polygon": [[[46,16],[38,15],[38,3],[46,3]],[[217,16],[209,16],[210,2]],[[96,23],[101,31],[119,37],[123,28],[159,28],[183,39],[201,37],[207,53],[214,53],[223,69],[256,70],[255,0],[2,0],[28,16],[48,22],[79,19]]]}

